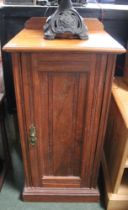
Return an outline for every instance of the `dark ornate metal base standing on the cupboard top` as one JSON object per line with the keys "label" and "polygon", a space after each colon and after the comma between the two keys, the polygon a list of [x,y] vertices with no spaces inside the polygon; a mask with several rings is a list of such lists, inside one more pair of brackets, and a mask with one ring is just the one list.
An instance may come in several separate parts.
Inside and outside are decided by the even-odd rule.
{"label": "dark ornate metal base standing on the cupboard top", "polygon": [[61,0],[57,10],[44,25],[45,39],[55,39],[56,34],[72,33],[80,39],[88,39],[88,29],[82,17],[73,8],[71,0]]}

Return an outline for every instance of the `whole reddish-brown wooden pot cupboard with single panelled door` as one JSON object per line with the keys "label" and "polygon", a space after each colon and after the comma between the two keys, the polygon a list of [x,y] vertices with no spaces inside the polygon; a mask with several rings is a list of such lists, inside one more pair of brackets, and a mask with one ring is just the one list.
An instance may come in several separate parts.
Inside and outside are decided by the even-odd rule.
{"label": "whole reddish-brown wooden pot cupboard with single panelled door", "polygon": [[96,19],[89,40],[44,40],[32,18],[11,52],[25,170],[25,201],[94,202],[116,55],[125,49]]}

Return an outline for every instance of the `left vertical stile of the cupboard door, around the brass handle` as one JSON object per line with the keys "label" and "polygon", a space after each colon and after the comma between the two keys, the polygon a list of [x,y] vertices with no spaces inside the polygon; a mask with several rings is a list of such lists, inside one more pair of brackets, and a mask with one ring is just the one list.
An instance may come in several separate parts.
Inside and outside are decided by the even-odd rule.
{"label": "left vertical stile of the cupboard door, around the brass handle", "polygon": [[34,145],[30,143],[30,129],[31,126],[35,126],[36,113],[34,112],[34,86],[33,86],[33,72],[31,66],[31,54],[22,54],[22,72],[23,72],[23,92],[24,92],[24,104],[25,104],[25,117],[27,126],[27,137],[29,145],[30,155],[30,168],[32,177],[32,186],[39,186],[39,165],[38,165],[38,151],[37,142]]}

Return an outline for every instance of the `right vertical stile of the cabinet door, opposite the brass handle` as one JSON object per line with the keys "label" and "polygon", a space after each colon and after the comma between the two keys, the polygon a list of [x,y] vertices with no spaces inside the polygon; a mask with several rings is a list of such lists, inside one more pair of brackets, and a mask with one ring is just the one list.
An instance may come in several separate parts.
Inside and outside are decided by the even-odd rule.
{"label": "right vertical stile of the cabinet door, opposite the brass handle", "polygon": [[97,180],[93,176],[93,168],[96,164],[95,150],[97,148],[97,135],[100,124],[100,115],[102,110],[104,78],[106,72],[107,55],[97,54],[94,56],[92,68],[90,72],[90,87],[88,111],[85,113],[84,146],[83,146],[83,167],[82,177],[83,185],[88,187],[96,187],[93,184]]}

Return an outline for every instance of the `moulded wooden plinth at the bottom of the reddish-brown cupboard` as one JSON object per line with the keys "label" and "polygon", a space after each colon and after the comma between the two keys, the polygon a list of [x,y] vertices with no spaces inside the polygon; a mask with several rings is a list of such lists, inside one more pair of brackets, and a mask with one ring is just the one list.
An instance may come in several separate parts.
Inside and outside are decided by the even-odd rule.
{"label": "moulded wooden plinth at the bottom of the reddish-brown cupboard", "polygon": [[98,202],[98,189],[88,188],[39,188],[25,187],[22,199],[24,201],[43,202]]}

